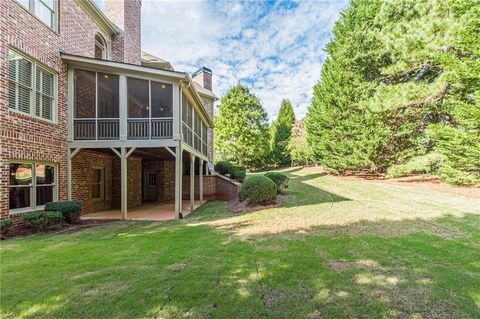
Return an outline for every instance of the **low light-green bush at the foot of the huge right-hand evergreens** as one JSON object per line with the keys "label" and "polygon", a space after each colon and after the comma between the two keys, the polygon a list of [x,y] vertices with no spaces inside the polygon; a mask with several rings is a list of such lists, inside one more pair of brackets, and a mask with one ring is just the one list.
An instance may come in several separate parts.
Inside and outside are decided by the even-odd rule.
{"label": "low light-green bush at the foot of the huge right-hand evergreens", "polygon": [[404,164],[392,165],[385,177],[402,177],[411,174],[429,174],[439,170],[445,156],[439,153],[428,153],[421,156],[412,157]]}

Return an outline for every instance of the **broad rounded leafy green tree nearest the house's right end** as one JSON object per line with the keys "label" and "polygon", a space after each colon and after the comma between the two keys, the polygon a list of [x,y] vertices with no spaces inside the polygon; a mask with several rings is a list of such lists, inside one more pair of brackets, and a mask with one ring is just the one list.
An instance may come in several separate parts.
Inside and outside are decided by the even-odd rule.
{"label": "broad rounded leafy green tree nearest the house's right end", "polygon": [[268,116],[260,100],[244,85],[231,88],[215,118],[215,147],[223,158],[260,168],[268,152]]}

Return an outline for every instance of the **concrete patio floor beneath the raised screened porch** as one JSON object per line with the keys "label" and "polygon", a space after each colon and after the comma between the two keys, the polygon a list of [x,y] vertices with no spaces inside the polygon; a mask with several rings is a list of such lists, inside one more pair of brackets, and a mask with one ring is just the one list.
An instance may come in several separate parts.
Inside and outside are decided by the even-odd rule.
{"label": "concrete patio floor beneath the raised screened porch", "polygon": [[[190,214],[190,201],[183,200],[183,217]],[[195,208],[200,206],[200,201],[195,201]],[[121,219],[120,209],[102,210],[95,213],[82,215],[81,219]],[[147,202],[140,206],[128,209],[128,220],[154,220],[166,221],[175,219],[175,202]]]}

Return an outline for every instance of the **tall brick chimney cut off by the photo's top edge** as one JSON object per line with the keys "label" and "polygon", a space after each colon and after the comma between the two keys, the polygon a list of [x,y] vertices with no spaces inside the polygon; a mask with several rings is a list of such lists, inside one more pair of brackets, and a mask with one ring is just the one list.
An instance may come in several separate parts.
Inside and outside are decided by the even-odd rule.
{"label": "tall brick chimney cut off by the photo's top edge", "polygon": [[141,63],[141,0],[105,1],[105,15],[122,32],[112,41],[113,60]]}

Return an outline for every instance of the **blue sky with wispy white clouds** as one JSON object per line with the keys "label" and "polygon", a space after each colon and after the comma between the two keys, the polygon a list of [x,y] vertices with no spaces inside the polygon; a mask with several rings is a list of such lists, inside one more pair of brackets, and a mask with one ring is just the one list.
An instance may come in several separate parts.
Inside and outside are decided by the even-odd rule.
{"label": "blue sky with wispy white clouds", "polygon": [[211,68],[219,97],[241,82],[261,99],[270,119],[283,98],[301,118],[319,80],[333,24],[347,4],[143,0],[142,48],[181,71]]}

